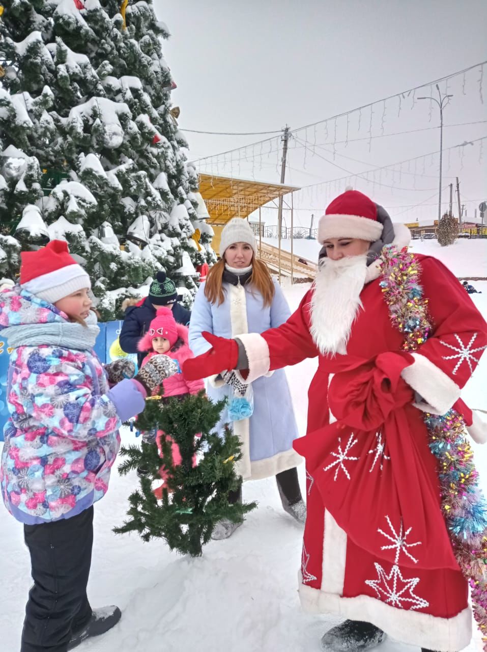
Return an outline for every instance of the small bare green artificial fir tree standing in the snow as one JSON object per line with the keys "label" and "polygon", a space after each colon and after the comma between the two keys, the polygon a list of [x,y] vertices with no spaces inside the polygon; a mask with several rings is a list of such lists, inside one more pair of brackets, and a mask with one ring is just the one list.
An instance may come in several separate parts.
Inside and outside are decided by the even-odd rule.
{"label": "small bare green artificial fir tree standing in the snow", "polygon": [[[217,522],[227,518],[240,522],[255,508],[255,503],[229,504],[229,492],[238,490],[241,479],[236,473],[240,460],[240,441],[229,428],[223,437],[214,432],[225,400],[212,403],[204,393],[188,395],[182,400],[171,398],[148,400],[137,417],[137,427],[155,434],[169,434],[178,444],[182,462],[173,463],[172,442],[161,438],[161,456],[154,444],[143,443],[122,448],[126,460],[119,471],[144,467],[148,475],[140,479],[141,488],[130,496],[130,520],[115,528],[118,534],[137,531],[144,541],[162,538],[171,550],[193,557],[202,554]],[[195,464],[195,458],[197,464]],[[161,482],[160,469],[166,479],[161,499],[156,499],[153,482]]]}

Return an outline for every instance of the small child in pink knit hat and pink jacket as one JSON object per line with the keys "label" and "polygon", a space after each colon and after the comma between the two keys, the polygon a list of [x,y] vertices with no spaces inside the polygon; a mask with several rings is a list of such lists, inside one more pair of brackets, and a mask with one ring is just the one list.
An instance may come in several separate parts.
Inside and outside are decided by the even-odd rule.
{"label": "small child in pink knit hat and pink jacket", "polygon": [[[158,309],[156,318],[150,322],[148,332],[139,341],[137,348],[141,352],[150,351],[143,360],[142,368],[155,355],[167,355],[176,361],[180,370],[185,360],[195,357],[188,345],[188,328],[176,323],[173,312],[169,308]],[[202,389],[204,389],[204,382],[202,380],[186,381],[182,373],[178,373],[171,376],[171,378],[165,378],[161,387],[154,389],[154,394],[163,394],[163,401],[167,401],[174,396],[180,399],[183,396],[188,396],[188,394],[197,394]],[[156,441],[159,451],[161,451],[162,436],[162,430],[158,430]],[[165,439],[166,441],[172,442],[173,463],[176,465],[181,464],[181,453],[178,445],[169,435],[166,435]],[[145,441],[150,441],[150,439],[147,439],[145,436]],[[143,475],[144,471],[145,469],[139,469],[141,475]],[[161,466],[160,475],[163,480],[167,479],[167,471],[163,466]],[[157,497],[161,497],[161,488],[154,493]]]}

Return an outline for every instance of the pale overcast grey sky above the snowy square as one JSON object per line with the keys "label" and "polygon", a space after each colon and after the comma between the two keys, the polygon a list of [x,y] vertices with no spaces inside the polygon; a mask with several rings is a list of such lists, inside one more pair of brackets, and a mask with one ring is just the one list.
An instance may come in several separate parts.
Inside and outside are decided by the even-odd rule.
{"label": "pale overcast grey sky above the snowy square", "polygon": [[[179,124],[193,130],[258,132],[286,124],[296,129],[487,59],[484,0],[154,0],[154,5],[172,34],[164,54],[178,84],[173,101],[181,108]],[[487,121],[487,66],[483,72],[482,88],[480,68],[440,83],[442,93],[453,94],[445,125]],[[349,173],[438,151],[438,107],[433,104],[430,112],[428,100],[417,100],[421,95],[430,95],[430,88],[401,98],[401,106],[397,97],[375,104],[372,124],[367,108],[348,121],[331,119],[296,133],[286,183],[302,187],[352,177]],[[198,165],[201,171],[279,181],[279,134],[186,136],[193,160],[271,138]],[[460,177],[469,217],[487,200],[487,140],[448,148],[482,136],[487,122],[445,126],[443,132],[442,185]],[[438,167],[438,155],[428,156],[370,173],[370,183],[352,177],[352,184],[398,220],[436,218]],[[348,183],[341,179],[301,190],[296,221],[309,224],[311,213],[319,215]],[[445,209],[448,195],[445,190]],[[268,222],[274,214],[268,212]]]}

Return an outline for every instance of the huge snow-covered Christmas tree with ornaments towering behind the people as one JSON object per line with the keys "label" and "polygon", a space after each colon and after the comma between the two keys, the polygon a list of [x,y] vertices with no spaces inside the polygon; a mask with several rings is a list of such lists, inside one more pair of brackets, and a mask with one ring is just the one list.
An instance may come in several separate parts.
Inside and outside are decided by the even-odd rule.
{"label": "huge snow-covered Christmas tree with ornaments towering behind the people", "polygon": [[171,114],[169,31],[150,1],[121,1],[3,0],[0,18],[0,273],[18,266],[8,236],[64,238],[104,319],[160,268],[191,303],[214,261]]}

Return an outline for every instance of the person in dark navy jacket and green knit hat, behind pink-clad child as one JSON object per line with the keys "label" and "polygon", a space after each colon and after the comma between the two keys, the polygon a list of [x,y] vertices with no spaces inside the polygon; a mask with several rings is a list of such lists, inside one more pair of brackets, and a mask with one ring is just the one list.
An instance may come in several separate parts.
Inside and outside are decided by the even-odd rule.
{"label": "person in dark navy jacket and green knit hat, behind pink-clad child", "polygon": [[[125,310],[124,323],[120,332],[120,348],[126,353],[137,353],[137,364],[139,368],[146,352],[139,351],[137,344],[139,340],[148,331],[150,322],[156,317],[156,310],[161,306],[173,310],[174,320],[184,326],[189,325],[191,311],[183,308],[178,303],[178,293],[176,286],[170,278],[167,278],[165,272],[157,273],[155,280],[152,281],[149,288],[149,295],[135,305],[129,305]],[[122,304],[123,306],[123,304]]]}

